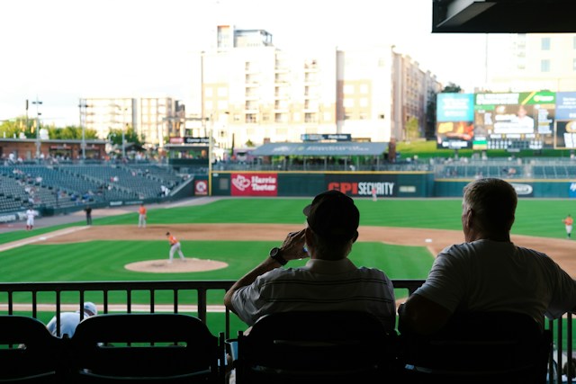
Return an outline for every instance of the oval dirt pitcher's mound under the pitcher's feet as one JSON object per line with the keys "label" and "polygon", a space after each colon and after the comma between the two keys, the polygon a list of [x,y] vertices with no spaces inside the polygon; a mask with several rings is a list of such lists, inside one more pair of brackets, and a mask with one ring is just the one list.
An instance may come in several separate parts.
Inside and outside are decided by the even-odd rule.
{"label": "oval dirt pitcher's mound under the pitcher's feet", "polygon": [[147,260],[144,262],[129,263],[124,267],[130,271],[152,272],[152,273],[170,273],[170,272],[203,272],[213,271],[216,269],[226,268],[227,263],[216,262],[214,260],[202,260],[196,258],[187,258],[182,260],[175,258],[172,263],[167,259]]}

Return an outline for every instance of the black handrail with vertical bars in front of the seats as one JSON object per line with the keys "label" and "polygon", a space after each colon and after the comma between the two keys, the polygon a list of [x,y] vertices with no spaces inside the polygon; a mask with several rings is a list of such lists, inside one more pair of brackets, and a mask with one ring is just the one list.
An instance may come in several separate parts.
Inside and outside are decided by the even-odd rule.
{"label": "black handrail with vertical bars in front of the seats", "polygon": [[[198,317],[204,324],[207,324],[207,313],[209,307],[214,304],[209,303],[209,291],[221,291],[222,298],[226,290],[234,284],[235,281],[49,281],[49,282],[0,282],[0,313],[7,312],[13,315],[14,311],[31,311],[32,317],[38,317],[39,310],[50,311],[59,315],[63,310],[68,308],[79,308],[78,304],[85,301],[86,292],[102,292],[103,293],[103,313],[108,313],[111,310],[118,311],[118,308],[126,310],[130,313],[132,311],[154,313],[158,311],[178,313],[185,308],[191,312],[197,312]],[[412,279],[399,279],[392,280],[394,289],[407,290],[410,296],[415,290],[422,285],[423,280]],[[134,299],[134,291],[148,291],[149,296],[147,300]],[[171,302],[158,303],[157,291],[171,290],[173,298]],[[179,294],[182,290],[195,290],[196,295],[194,299],[189,296]],[[125,291],[126,300],[124,303],[117,304],[111,303],[109,294],[112,291]],[[15,302],[14,294],[20,292],[31,293],[31,300],[25,302]],[[40,302],[39,294],[42,292],[53,292],[56,297],[53,301],[47,302],[43,298]],[[64,302],[62,294],[64,292],[77,292],[78,300],[67,300]],[[7,299],[4,301],[4,297]],[[225,313],[225,330],[224,333],[227,338],[230,337],[230,314],[227,308],[223,307],[223,299],[216,305]],[[80,317],[84,314],[80,312]],[[555,351],[550,353],[549,361],[549,380],[554,379],[554,354],[555,362],[557,363],[556,380],[562,382],[562,368],[563,368],[563,353],[567,356],[572,356],[572,314],[565,316],[567,319],[566,326],[566,340],[568,341],[563,345],[563,322],[559,320],[548,320],[547,328],[556,332],[554,340]],[[57,329],[59,333],[59,316],[57,316]],[[569,363],[571,360],[569,359]],[[572,380],[569,378],[569,383]]]}

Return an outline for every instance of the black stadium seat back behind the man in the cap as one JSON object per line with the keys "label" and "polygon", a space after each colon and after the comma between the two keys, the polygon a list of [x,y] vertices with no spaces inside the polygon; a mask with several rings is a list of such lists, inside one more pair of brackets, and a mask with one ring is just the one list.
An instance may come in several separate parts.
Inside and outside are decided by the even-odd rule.
{"label": "black stadium seat back behind the man in the cap", "polygon": [[[238,335],[237,382],[387,382],[394,341],[365,312],[285,312],[261,317]],[[391,381],[393,382],[393,381]]]}

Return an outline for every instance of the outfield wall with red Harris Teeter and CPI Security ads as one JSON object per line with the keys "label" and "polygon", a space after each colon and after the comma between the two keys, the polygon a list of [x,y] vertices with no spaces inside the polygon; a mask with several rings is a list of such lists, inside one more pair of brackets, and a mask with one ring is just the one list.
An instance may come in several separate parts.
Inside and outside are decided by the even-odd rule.
{"label": "outfield wall with red Harris Teeter and CPI Security ads", "polygon": [[[218,172],[214,196],[313,196],[337,189],[352,197],[462,197],[473,179],[435,179],[430,172]],[[519,197],[576,198],[576,179],[510,179]]]}

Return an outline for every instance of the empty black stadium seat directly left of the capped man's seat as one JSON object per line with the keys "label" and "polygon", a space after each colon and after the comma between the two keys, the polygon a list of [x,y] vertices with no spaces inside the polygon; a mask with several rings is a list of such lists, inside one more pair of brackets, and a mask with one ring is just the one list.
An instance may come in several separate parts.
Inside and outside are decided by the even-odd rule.
{"label": "empty black stadium seat directly left of the capped man's seat", "polygon": [[224,335],[175,313],[88,317],[70,339],[71,382],[220,383]]}

